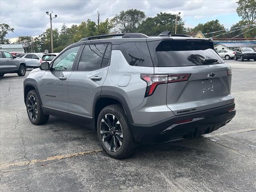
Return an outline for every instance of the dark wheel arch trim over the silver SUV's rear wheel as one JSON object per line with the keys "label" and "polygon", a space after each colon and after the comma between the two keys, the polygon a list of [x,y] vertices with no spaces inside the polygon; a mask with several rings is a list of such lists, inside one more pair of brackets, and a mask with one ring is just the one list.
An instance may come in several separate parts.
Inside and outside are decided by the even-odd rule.
{"label": "dark wheel arch trim over the silver SUV's rear wheel", "polygon": [[125,98],[117,92],[102,91],[101,94],[98,94],[98,96],[96,96],[93,102],[92,116],[93,116],[94,128],[96,128],[98,115],[100,114],[100,111],[104,107],[112,104],[120,104],[127,116],[128,123],[129,124],[133,123],[132,114],[130,112],[130,108]]}

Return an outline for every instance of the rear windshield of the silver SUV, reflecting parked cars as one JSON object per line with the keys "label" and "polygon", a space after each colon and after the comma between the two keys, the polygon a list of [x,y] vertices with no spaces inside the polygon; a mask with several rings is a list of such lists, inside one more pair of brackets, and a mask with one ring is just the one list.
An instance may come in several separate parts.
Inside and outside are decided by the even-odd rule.
{"label": "rear windshield of the silver SUV, reflecting parked cars", "polygon": [[163,40],[148,42],[154,66],[178,67],[220,64],[212,42]]}

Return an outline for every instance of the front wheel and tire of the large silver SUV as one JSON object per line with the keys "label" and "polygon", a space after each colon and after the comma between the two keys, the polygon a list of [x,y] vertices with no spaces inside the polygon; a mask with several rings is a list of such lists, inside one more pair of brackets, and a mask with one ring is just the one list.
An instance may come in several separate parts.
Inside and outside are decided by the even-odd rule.
{"label": "front wheel and tire of the large silver SUV", "polygon": [[45,115],[40,106],[39,99],[36,95],[35,90],[31,90],[30,92],[28,92],[26,98],[26,109],[28,118],[30,122],[32,122],[32,124],[34,125],[45,124],[49,119],[49,115]]}

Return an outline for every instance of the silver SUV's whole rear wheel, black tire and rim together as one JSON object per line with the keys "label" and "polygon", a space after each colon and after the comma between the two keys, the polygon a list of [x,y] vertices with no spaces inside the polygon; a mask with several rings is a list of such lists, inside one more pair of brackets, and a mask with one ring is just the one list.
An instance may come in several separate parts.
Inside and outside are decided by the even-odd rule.
{"label": "silver SUV's whole rear wheel, black tire and rim together", "polygon": [[[115,159],[131,156],[137,146],[120,105],[110,105],[102,109],[97,121],[97,135],[103,150]],[[106,138],[104,142],[103,138]]]}

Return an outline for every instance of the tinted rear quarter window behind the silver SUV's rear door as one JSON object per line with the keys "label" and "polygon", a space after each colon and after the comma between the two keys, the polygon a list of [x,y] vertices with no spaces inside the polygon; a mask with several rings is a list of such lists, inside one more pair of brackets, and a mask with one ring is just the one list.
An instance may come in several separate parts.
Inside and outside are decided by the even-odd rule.
{"label": "tinted rear quarter window behind the silver SUV's rear door", "polygon": [[113,45],[113,50],[120,50],[129,65],[153,67],[146,42],[126,42]]}

